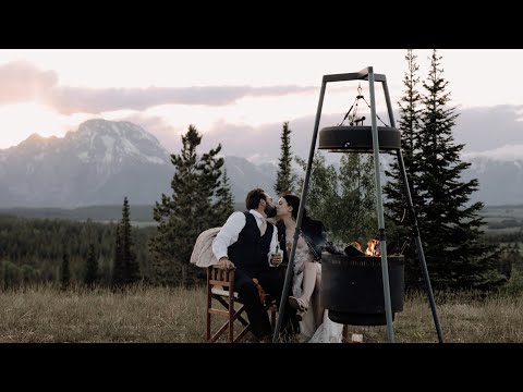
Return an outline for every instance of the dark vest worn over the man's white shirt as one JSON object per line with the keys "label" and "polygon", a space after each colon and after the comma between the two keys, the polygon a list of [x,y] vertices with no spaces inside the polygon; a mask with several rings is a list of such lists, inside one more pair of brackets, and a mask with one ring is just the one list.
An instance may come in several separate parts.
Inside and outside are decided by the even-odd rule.
{"label": "dark vest worn over the man's white shirt", "polygon": [[264,236],[259,235],[256,218],[248,211],[245,213],[245,226],[240,232],[238,241],[229,246],[229,258],[238,268],[248,271],[269,267],[267,254],[275,226],[267,222]]}

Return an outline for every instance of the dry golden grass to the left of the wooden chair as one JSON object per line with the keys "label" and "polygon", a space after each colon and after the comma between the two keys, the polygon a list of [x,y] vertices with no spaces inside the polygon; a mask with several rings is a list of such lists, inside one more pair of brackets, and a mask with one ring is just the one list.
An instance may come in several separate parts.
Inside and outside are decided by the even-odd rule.
{"label": "dry golden grass to the left of the wooden chair", "polygon": [[49,286],[0,295],[0,342],[202,342],[203,290]]}

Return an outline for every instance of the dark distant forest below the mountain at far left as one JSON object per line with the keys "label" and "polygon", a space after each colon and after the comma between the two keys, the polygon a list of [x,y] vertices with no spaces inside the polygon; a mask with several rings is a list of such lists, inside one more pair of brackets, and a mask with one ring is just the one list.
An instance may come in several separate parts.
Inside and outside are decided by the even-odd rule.
{"label": "dark distant forest below the mountain at far left", "polygon": [[[0,286],[113,284],[117,224],[0,216]],[[141,279],[150,281],[153,226],[130,232]],[[66,268],[64,268],[66,267]]]}

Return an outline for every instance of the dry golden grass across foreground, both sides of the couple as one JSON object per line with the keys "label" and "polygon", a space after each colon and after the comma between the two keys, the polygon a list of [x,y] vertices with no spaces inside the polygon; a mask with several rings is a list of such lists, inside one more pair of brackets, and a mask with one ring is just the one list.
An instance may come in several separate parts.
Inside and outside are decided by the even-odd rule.
{"label": "dry golden grass across foreground, both sides of the couple", "polygon": [[[199,343],[205,333],[203,289],[132,287],[125,293],[34,286],[0,292],[0,342]],[[523,342],[523,295],[438,295],[446,342]],[[386,327],[349,327],[365,342],[387,342]],[[437,342],[424,293],[396,315],[397,342]]]}

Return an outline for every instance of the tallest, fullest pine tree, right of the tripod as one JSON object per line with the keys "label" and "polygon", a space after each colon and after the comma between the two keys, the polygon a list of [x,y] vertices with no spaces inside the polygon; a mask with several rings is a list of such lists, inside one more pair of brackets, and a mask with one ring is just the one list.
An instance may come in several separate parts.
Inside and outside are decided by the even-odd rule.
{"label": "tallest, fullest pine tree, right of the tripod", "polygon": [[460,160],[464,145],[453,140],[458,114],[448,107],[450,93],[446,91],[448,82],[441,76],[440,60],[434,50],[428,78],[423,83],[426,94],[422,97],[419,161],[415,166],[419,172],[417,192],[423,197],[421,208],[416,206],[422,242],[435,286],[486,289],[501,281],[496,270],[497,254],[494,246],[481,241],[484,221],[478,211],[483,203],[470,204],[478,181],[461,180],[471,163]]}

